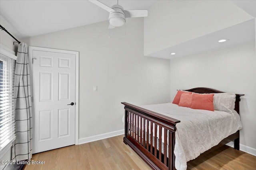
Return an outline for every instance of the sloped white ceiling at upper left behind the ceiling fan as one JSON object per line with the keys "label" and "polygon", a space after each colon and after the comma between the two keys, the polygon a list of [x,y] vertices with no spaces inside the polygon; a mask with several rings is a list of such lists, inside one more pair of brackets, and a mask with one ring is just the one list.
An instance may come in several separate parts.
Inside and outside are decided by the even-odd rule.
{"label": "sloped white ceiling at upper left behind the ceiling fan", "polygon": [[[101,0],[108,6],[116,0]],[[119,0],[126,10],[146,10],[155,0]],[[0,24],[17,38],[32,37],[108,20],[88,0],[0,0]]]}

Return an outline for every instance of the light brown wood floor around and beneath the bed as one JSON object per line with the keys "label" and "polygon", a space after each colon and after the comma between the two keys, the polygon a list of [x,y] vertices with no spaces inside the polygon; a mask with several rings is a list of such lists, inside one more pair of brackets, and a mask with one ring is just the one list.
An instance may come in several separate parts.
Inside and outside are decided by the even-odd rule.
{"label": "light brown wood floor around and beneath the bed", "polygon": [[[32,160],[45,164],[30,164],[25,170],[150,170],[123,137],[33,154]],[[190,162],[188,170],[256,170],[256,156],[224,146]]]}

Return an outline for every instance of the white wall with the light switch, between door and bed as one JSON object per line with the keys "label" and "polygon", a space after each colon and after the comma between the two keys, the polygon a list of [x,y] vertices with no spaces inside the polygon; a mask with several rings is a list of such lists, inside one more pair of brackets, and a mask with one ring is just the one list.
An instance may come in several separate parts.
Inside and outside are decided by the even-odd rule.
{"label": "white wall with the light switch, between door and bed", "polygon": [[[170,101],[170,61],[144,57],[143,18],[110,30],[108,21],[22,39],[30,46],[79,51],[79,138],[124,129],[124,106]],[[98,92],[93,92],[98,86]]]}

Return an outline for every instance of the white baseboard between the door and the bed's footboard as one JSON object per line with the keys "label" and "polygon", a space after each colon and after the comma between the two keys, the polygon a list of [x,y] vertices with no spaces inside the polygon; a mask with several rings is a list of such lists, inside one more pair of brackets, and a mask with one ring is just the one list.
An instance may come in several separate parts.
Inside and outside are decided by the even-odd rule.
{"label": "white baseboard between the door and the bed's footboard", "polygon": [[91,137],[84,137],[84,138],[78,139],[78,145],[83,144],[83,143],[98,141],[101,139],[106,139],[106,138],[110,138],[110,137],[114,137],[114,136],[118,136],[118,135],[123,135],[123,134],[124,134],[124,129],[119,130],[119,131],[114,131],[114,132],[103,133],[103,134],[95,135],[95,136],[91,136]]}

